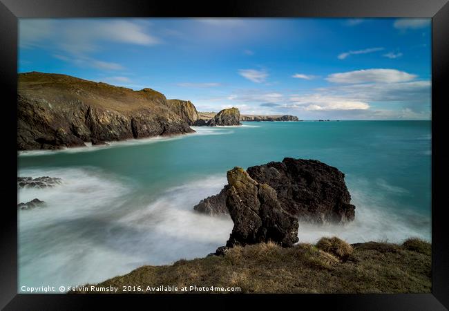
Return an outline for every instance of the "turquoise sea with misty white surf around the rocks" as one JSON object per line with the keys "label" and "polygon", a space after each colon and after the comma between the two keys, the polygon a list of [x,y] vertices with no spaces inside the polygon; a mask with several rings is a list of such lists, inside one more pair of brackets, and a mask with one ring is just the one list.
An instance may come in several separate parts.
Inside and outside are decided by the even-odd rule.
{"label": "turquoise sea with misty white surf around the rocks", "polygon": [[19,213],[19,290],[82,285],[206,256],[229,238],[230,218],[196,214],[217,194],[226,171],[316,159],[345,173],[356,205],[347,225],[300,223],[300,242],[339,236],[350,243],[430,241],[430,121],[244,122],[194,127],[174,138],[115,142],[109,147],[28,151],[19,176],[63,180],[50,189],[20,189],[18,202],[47,207]]}

